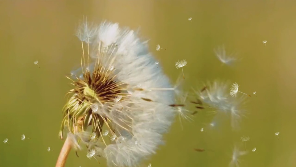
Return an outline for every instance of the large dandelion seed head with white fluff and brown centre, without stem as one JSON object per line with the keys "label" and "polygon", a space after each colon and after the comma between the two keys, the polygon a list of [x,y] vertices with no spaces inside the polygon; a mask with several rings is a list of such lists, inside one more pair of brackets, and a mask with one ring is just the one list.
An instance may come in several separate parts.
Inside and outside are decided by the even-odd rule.
{"label": "large dandelion seed head with white fluff and brown centre, without stem", "polygon": [[[86,43],[82,45],[83,78],[71,79],[74,88],[63,108],[60,137],[63,138],[64,127],[68,128],[75,148],[80,148],[76,140],[81,135],[76,134],[83,134],[91,126],[102,142],[82,139],[89,150],[105,157],[108,166],[136,166],[163,143],[162,134],[177,113],[169,106],[175,104],[174,88],[158,89],[171,88],[169,79],[161,68],[155,68],[147,43],[140,41],[133,30],[119,28],[117,23],[104,22],[100,26],[84,23],[77,36]],[[85,68],[90,64],[94,65],[93,70]],[[109,71],[110,66],[116,68],[116,74]],[[138,85],[156,89],[134,89]],[[113,101],[119,95],[121,104]],[[98,105],[96,112],[92,112],[93,104]],[[108,136],[102,136],[103,127],[109,129],[110,136],[116,135],[111,143],[106,139]],[[141,145],[135,145],[135,141]]]}

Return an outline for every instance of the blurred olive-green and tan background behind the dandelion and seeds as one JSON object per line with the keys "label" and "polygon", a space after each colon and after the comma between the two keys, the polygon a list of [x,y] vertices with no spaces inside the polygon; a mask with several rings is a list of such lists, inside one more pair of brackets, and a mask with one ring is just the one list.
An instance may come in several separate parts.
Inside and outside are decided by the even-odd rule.
{"label": "blurred olive-green and tan background behind the dandelion and seeds", "polygon": [[[61,109],[71,88],[65,75],[80,63],[80,41],[74,34],[87,16],[96,23],[107,19],[140,27],[172,82],[181,73],[175,62],[186,59],[184,90],[224,79],[239,83],[242,92],[257,91],[246,105],[249,114],[240,131],[227,126],[206,129],[210,119],[203,113],[183,121],[182,130],[176,118],[164,135],[166,145],[140,166],[227,167],[234,144],[249,135],[249,154],[241,157],[241,166],[295,167],[295,6],[296,1],[289,0],[0,1],[0,139],[8,138],[11,145],[0,143],[0,166],[55,165],[63,145],[58,137]],[[167,50],[157,52],[157,44]],[[221,66],[213,52],[223,44],[241,58],[233,67]],[[201,133],[201,127],[207,133]],[[22,134],[31,140],[21,141]],[[55,151],[47,152],[48,147]],[[259,155],[251,152],[253,147]],[[78,158],[71,151],[66,166],[106,166],[105,160],[99,165],[85,154],[78,152]]]}

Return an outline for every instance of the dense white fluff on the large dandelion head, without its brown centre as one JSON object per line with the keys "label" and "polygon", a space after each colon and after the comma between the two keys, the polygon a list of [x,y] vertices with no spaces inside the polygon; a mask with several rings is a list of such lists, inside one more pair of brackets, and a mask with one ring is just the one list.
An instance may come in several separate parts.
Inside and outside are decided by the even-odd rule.
{"label": "dense white fluff on the large dandelion head, without its brown centre", "polygon": [[[120,101],[121,112],[117,112],[118,103],[108,110],[104,106],[108,104],[104,104],[97,111],[112,122],[116,140],[110,144],[93,143],[92,148],[106,158],[108,166],[137,166],[163,143],[162,134],[168,131],[177,113],[168,106],[175,102],[174,91],[149,90],[171,88],[169,79],[154,65],[147,42],[141,41],[137,32],[129,28],[119,28],[118,23],[106,21],[99,26],[84,23],[77,36],[89,45],[94,63],[101,63],[107,70],[113,66],[116,74],[112,79],[128,85],[124,92],[127,95]],[[134,89],[138,85],[143,91]]]}

